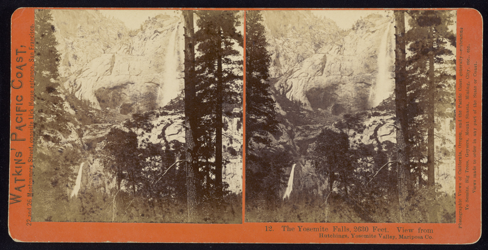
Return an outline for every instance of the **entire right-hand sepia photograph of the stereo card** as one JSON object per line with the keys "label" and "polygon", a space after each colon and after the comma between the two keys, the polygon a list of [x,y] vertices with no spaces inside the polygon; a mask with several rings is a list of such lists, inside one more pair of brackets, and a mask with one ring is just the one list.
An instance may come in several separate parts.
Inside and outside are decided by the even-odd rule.
{"label": "entire right-hand sepia photograph of the stereo card", "polygon": [[455,223],[456,35],[451,10],[245,11],[245,222]]}

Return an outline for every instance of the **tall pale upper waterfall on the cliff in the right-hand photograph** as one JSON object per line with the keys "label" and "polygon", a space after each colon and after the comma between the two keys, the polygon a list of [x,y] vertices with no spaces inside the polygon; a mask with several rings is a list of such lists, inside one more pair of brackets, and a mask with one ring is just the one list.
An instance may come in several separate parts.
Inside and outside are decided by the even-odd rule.
{"label": "tall pale upper waterfall on the cliff in the right-hand photograph", "polygon": [[391,72],[389,71],[391,66],[391,58],[388,56],[388,35],[390,31],[390,26],[392,24],[388,23],[386,25],[385,33],[381,38],[379,52],[378,52],[378,76],[376,77],[376,83],[371,89],[369,94],[369,101],[372,107],[378,106],[384,99],[392,93],[393,79],[391,77]]}

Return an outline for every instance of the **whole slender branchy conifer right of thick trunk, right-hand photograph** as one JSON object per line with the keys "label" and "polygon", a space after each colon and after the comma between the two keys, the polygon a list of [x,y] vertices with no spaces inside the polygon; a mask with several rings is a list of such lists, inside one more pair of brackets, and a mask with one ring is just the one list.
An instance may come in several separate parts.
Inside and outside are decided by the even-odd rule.
{"label": "whole slender branchy conifer right of thick trunk, right-hand photograph", "polygon": [[[447,48],[448,44],[455,46],[456,37],[448,29],[452,24],[448,11],[411,11],[411,29],[408,32],[409,75],[411,77],[412,101],[416,102],[418,109],[411,117],[422,116],[427,128],[427,184],[432,186],[434,179],[434,128],[435,116],[444,116],[437,112],[436,106],[445,98],[443,89],[446,89],[449,78],[454,72],[445,70],[447,64],[454,64],[445,58],[453,53]],[[436,66],[437,69],[436,69]],[[442,96],[441,96],[442,95]],[[439,110],[441,111],[441,110]],[[426,115],[421,115],[420,113]]]}

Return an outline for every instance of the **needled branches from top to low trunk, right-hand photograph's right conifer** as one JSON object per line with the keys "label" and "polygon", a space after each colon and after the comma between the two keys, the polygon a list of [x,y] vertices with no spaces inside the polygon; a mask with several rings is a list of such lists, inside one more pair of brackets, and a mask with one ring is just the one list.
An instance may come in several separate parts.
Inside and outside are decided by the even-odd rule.
{"label": "needled branches from top to low trunk, right-hand photograph's right conifer", "polygon": [[[417,185],[427,182],[424,175],[434,155],[434,136],[444,146],[448,139],[441,124],[454,120],[456,37],[449,29],[453,17],[449,11],[409,11],[411,29],[407,32],[408,121],[412,172]],[[431,63],[430,60],[433,60]],[[434,68],[430,69],[430,65]],[[435,128],[435,129],[434,129]],[[430,138],[430,139],[429,139]],[[432,148],[429,153],[429,148]]]}

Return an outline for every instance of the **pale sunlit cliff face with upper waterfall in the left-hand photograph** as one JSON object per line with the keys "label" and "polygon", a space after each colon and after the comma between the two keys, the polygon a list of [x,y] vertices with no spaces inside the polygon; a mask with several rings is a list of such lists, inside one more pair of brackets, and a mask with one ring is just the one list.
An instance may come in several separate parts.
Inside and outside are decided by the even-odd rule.
{"label": "pale sunlit cliff face with upper waterfall in the left-hand photograph", "polygon": [[72,17],[53,13],[55,25],[66,26],[57,34],[61,75],[68,77],[63,86],[92,107],[122,114],[147,111],[163,107],[183,89],[180,17],[160,15],[129,32],[95,10],[75,11]]}

